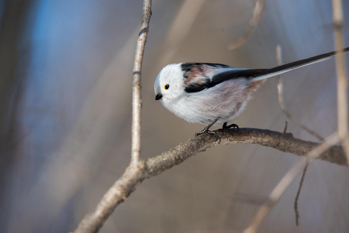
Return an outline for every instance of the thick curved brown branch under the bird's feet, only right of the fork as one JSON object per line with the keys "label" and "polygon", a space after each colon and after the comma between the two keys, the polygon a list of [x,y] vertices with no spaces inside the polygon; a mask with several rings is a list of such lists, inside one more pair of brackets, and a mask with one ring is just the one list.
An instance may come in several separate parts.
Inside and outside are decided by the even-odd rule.
{"label": "thick curved brown branch under the bird's feet, only right of the fork", "polygon": [[[225,131],[218,129],[216,132],[220,137],[216,142],[214,142],[213,136],[203,134],[187,142],[183,142],[169,151],[161,153],[159,156],[148,159],[146,161],[146,168],[148,170],[147,178],[180,164],[185,159],[201,151],[205,151],[207,148],[220,144],[259,144],[299,156],[304,156],[307,152],[319,145],[319,143],[294,138],[291,133],[283,134],[268,129],[240,128],[239,132],[236,129],[226,129]],[[318,159],[339,165],[347,165],[347,159],[342,146],[332,146],[329,150],[322,153]]]}

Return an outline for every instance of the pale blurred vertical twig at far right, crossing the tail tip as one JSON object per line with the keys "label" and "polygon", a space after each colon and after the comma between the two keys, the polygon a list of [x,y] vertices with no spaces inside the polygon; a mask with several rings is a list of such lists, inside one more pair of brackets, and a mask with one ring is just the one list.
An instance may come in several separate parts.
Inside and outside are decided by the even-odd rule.
{"label": "pale blurred vertical twig at far right, crossing the tail tip", "polygon": [[338,108],[338,134],[342,139],[344,150],[347,158],[349,158],[349,132],[348,132],[348,100],[347,87],[348,78],[346,76],[346,67],[344,64],[344,54],[340,53],[343,48],[342,40],[342,2],[341,0],[332,0],[333,8],[333,26],[335,47],[337,54],[336,59],[336,73],[337,73],[337,108]]}

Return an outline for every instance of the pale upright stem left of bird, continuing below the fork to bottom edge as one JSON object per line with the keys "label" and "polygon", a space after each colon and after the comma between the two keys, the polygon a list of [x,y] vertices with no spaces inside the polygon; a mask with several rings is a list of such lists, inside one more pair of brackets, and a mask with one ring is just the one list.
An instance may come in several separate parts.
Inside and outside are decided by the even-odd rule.
{"label": "pale upright stem left of bird, continuing below the fork to bottom edge", "polygon": [[[144,46],[146,44],[151,16],[151,0],[144,0],[140,32],[136,43],[136,54],[132,83],[132,146],[131,162],[125,173],[104,194],[96,208],[88,213],[74,231],[75,233],[95,233],[105,223],[117,205],[126,200],[143,175],[144,161],[140,160],[141,148],[141,69]],[[130,188],[131,187],[131,188]]]}

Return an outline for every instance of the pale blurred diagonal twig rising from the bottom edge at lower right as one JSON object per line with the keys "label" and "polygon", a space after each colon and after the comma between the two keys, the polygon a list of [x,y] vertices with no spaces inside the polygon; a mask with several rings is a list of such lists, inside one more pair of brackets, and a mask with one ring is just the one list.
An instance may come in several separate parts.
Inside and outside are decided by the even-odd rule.
{"label": "pale blurred diagonal twig rising from the bottom edge at lower right", "polygon": [[[340,137],[338,136],[337,133],[334,133],[333,135],[329,136],[324,142],[322,142],[319,146],[317,146],[315,149],[307,153],[305,160],[307,161],[307,163],[310,163],[313,159],[318,157],[322,152],[326,151],[328,148],[338,143],[339,141],[340,141]],[[262,222],[264,217],[267,215],[269,210],[280,199],[281,195],[284,193],[286,188],[291,184],[291,182],[297,177],[297,175],[300,172],[302,172],[303,168],[304,168],[304,159],[302,159],[302,161],[299,161],[294,167],[291,168],[291,170],[287,174],[284,175],[284,177],[276,185],[272,193],[270,193],[268,201],[261,206],[261,208],[258,210],[257,214],[255,215],[254,219],[252,220],[250,226],[244,231],[244,233],[256,232],[257,228],[259,227],[260,223]]]}

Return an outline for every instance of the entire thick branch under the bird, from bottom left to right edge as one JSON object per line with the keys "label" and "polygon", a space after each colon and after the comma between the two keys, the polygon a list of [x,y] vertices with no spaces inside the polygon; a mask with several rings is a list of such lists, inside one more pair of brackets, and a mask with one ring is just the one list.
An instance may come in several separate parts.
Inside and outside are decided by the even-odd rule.
{"label": "entire thick branch under the bird, from bottom left to right edge", "polygon": [[[144,179],[156,176],[169,168],[182,163],[207,148],[222,144],[244,143],[269,146],[280,151],[304,156],[317,147],[320,143],[303,141],[294,138],[291,133],[280,133],[268,129],[240,128],[216,130],[220,139],[214,142],[215,137],[202,134],[183,142],[169,151],[146,161],[139,160],[136,166],[129,166],[125,173],[114,183],[114,185],[103,196],[95,210],[86,215],[75,232],[97,232],[106,221],[112,211],[135,190]],[[318,159],[346,165],[347,160],[342,146],[331,146],[318,157]],[[98,225],[91,224],[98,223]]]}

